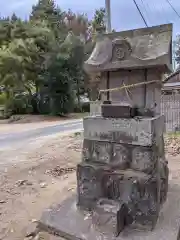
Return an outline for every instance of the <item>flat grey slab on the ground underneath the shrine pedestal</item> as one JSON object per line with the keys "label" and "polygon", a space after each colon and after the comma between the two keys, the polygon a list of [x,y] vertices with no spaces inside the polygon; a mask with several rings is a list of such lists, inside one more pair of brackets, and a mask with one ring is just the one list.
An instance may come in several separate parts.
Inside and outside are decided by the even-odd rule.
{"label": "flat grey slab on the ground underneath the shrine pedestal", "polygon": [[180,224],[180,196],[177,186],[171,186],[168,201],[154,231],[139,231],[128,227],[115,238],[111,233],[96,231],[91,223],[88,213],[77,210],[76,197],[72,196],[61,205],[46,210],[39,221],[39,228],[68,240],[176,240]]}

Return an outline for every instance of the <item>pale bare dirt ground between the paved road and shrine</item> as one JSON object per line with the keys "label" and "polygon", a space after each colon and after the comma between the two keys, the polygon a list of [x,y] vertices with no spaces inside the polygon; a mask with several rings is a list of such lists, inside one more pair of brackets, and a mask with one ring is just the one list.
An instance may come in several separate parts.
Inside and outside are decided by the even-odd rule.
{"label": "pale bare dirt ground between the paved road and shrine", "polygon": [[40,218],[43,209],[75,190],[80,149],[81,137],[58,137],[35,151],[24,151],[23,162],[1,167],[0,239],[24,239],[27,227]]}

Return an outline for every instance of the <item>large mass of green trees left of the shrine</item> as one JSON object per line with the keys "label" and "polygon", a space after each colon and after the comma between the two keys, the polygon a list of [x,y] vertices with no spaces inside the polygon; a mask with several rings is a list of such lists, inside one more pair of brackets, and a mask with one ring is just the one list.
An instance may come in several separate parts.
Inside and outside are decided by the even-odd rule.
{"label": "large mass of green trees left of the shrine", "polygon": [[97,10],[89,22],[86,14],[39,0],[28,21],[15,14],[0,19],[0,86],[6,89],[0,104],[6,101],[12,113],[62,115],[73,111],[77,98],[77,108],[85,111],[79,98],[89,79],[83,62],[94,46],[91,29],[105,26],[104,15]]}

